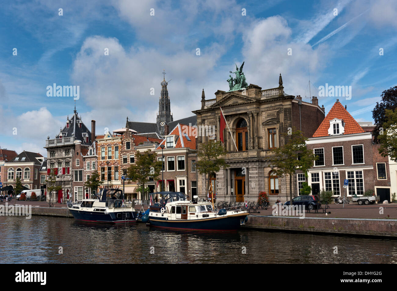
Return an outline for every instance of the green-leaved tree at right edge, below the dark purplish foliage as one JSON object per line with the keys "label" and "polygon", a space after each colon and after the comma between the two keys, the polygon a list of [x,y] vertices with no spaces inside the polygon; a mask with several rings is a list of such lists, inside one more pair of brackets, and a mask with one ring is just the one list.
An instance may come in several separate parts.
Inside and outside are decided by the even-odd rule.
{"label": "green-leaved tree at right edge, below the dark purplish foliage", "polygon": [[390,156],[391,160],[397,162],[397,109],[385,110],[385,122],[382,127],[383,134],[378,135],[379,153],[383,157]]}

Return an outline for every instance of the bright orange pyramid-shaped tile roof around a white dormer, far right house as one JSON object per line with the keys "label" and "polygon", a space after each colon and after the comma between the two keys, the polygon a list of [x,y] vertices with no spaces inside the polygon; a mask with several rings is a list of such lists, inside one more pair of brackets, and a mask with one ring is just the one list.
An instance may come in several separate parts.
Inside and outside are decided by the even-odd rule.
{"label": "bright orange pyramid-shaped tile roof around a white dormer, far right house", "polygon": [[345,132],[344,135],[352,133],[363,133],[365,132],[357,121],[347,112],[345,107],[337,101],[333,104],[330,112],[324,118],[313,137],[327,137],[328,129],[330,128],[330,121],[334,118],[342,119],[345,122]]}

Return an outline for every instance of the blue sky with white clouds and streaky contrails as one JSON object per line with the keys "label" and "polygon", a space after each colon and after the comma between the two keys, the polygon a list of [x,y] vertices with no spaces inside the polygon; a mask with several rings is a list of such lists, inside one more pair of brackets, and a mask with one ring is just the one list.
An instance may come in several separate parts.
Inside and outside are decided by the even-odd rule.
{"label": "blue sky with white clouds and streaky contrails", "polygon": [[[339,99],[357,121],[397,85],[395,0],[12,1],[0,24],[0,146],[17,153],[46,156],[74,102],[97,134],[156,122],[163,69],[174,120],[202,89],[228,91],[243,62],[248,84],[278,87],[281,73],[286,94],[318,96],[326,113]],[[47,96],[54,83],[79,99]],[[351,89],[321,96],[326,84]]]}

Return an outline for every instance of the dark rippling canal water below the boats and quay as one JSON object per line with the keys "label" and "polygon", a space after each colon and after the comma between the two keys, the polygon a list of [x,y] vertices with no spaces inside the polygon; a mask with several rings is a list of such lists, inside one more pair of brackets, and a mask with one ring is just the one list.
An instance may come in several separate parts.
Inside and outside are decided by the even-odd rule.
{"label": "dark rippling canal water below the boats and quay", "polygon": [[397,262],[397,240],[390,239],[253,230],[172,231],[46,216],[30,220],[1,216],[0,231],[2,263]]}

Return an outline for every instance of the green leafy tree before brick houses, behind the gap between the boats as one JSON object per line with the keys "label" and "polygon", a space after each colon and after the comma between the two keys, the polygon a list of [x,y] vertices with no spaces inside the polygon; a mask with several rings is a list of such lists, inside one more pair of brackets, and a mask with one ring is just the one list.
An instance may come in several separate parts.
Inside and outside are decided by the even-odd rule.
{"label": "green leafy tree before brick houses, behind the gap between the boats", "polygon": [[150,149],[143,153],[137,151],[135,153],[135,165],[131,165],[127,169],[127,177],[131,179],[128,184],[136,181],[138,185],[142,186],[142,189],[145,189],[149,177],[157,179],[162,170],[163,162],[157,161],[156,157],[156,154],[152,153]]}

